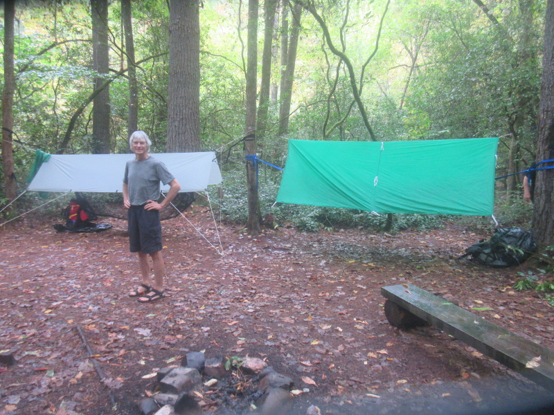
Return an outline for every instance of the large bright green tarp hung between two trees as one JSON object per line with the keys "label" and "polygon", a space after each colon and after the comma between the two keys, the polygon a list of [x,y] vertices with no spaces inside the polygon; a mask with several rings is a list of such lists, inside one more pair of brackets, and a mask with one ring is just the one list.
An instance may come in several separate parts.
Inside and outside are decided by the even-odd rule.
{"label": "large bright green tarp hung between two trees", "polygon": [[498,138],[289,140],[277,201],[379,213],[488,216]]}

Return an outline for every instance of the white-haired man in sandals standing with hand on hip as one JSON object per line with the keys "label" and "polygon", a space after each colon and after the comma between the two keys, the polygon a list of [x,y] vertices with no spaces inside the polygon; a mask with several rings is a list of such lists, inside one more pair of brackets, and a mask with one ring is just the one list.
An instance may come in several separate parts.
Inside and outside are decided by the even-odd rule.
{"label": "white-haired man in sandals standing with hand on hip", "polygon": [[[134,160],[127,161],[123,177],[123,204],[128,209],[129,248],[139,255],[141,286],[129,293],[129,297],[139,297],[139,302],[154,302],[165,297],[163,275],[166,266],[161,250],[160,211],[175,198],[181,186],[168,171],[166,165],[148,154],[150,138],[144,131],[135,131],[129,137],[129,147]],[[160,182],[169,184],[170,190],[163,201],[158,203]],[[154,269],[154,284],[150,282],[150,260]]]}

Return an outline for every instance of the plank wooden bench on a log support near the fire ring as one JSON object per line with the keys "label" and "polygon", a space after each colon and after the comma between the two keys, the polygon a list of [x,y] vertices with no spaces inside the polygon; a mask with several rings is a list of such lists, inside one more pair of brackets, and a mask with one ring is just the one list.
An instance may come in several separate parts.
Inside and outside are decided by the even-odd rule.
{"label": "plank wooden bench on a log support near the fire ring", "polygon": [[381,288],[388,322],[422,323],[453,335],[546,389],[554,389],[554,352],[411,284]]}

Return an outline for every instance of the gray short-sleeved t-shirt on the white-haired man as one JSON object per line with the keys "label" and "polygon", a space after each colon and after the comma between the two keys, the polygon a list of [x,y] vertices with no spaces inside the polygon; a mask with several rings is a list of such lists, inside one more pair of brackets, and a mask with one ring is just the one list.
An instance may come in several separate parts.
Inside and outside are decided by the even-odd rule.
{"label": "gray short-sleeved t-shirt on the white-haired man", "polygon": [[127,161],[123,183],[129,185],[129,203],[142,205],[159,199],[160,182],[167,185],[174,179],[166,165],[150,156],[141,161]]}

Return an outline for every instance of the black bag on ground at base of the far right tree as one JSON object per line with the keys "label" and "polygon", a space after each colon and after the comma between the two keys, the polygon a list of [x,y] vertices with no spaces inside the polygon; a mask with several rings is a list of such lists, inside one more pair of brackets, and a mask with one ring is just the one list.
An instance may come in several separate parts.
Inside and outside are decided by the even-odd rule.
{"label": "black bag on ground at base of the far right tree", "polygon": [[507,268],[522,264],[535,250],[537,242],[528,230],[499,228],[488,241],[475,243],[458,259],[471,256],[477,264]]}

